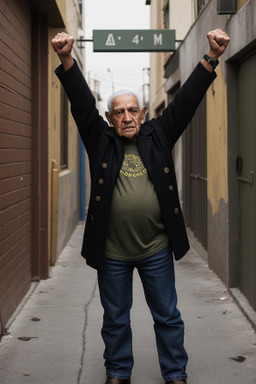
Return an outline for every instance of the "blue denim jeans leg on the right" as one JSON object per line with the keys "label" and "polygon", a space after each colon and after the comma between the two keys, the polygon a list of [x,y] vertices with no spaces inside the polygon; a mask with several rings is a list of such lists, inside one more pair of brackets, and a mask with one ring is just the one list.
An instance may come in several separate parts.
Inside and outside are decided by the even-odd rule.
{"label": "blue denim jeans leg on the right", "polygon": [[169,248],[142,260],[138,272],[154,319],[162,376],[165,381],[186,379],[184,324],[176,307],[173,257]]}

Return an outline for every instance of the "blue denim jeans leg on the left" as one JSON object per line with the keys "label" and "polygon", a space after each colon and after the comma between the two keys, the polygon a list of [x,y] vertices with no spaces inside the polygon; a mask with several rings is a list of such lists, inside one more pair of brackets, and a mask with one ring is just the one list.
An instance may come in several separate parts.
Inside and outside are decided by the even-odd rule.
{"label": "blue denim jeans leg on the left", "polygon": [[102,338],[105,343],[107,376],[129,379],[133,367],[130,309],[132,306],[133,266],[106,259],[98,271],[101,303],[104,308]]}

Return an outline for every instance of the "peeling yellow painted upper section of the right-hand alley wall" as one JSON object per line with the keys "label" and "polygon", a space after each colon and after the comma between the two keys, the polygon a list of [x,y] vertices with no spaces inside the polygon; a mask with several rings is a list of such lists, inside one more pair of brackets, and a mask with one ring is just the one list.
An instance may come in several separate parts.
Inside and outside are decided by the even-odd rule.
{"label": "peeling yellow painted upper section of the right-hand alley wall", "polygon": [[220,200],[228,200],[227,88],[224,65],[207,92],[207,186],[212,215],[218,212]]}

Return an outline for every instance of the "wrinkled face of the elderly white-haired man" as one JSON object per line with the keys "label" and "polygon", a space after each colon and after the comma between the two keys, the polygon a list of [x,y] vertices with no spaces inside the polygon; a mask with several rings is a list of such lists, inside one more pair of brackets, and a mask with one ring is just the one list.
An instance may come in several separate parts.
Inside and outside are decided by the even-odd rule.
{"label": "wrinkled face of the elderly white-haired man", "polygon": [[139,109],[136,96],[121,95],[112,100],[112,111],[106,112],[106,117],[119,136],[132,139],[140,131],[145,112],[146,107]]}

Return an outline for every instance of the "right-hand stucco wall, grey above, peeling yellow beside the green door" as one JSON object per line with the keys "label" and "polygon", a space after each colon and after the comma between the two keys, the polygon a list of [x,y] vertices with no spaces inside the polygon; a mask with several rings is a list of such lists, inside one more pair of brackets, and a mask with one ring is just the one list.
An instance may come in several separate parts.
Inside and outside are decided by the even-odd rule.
{"label": "right-hand stucco wall, grey above, peeling yellow beside the green door", "polygon": [[[237,265],[237,262],[232,261],[237,250],[230,242],[234,240],[233,234],[236,238],[238,236],[238,207],[234,203],[230,206],[236,183],[235,176],[233,179],[230,177],[235,172],[231,157],[232,146],[233,152],[236,146],[236,106],[235,100],[232,100],[236,78],[234,72],[231,75],[233,69],[229,61],[238,59],[247,50],[256,47],[256,2],[239,1],[238,9],[233,16],[218,15],[217,0],[211,0],[180,47],[180,76],[183,83],[208,49],[206,34],[209,30],[221,28],[231,37],[216,70],[218,78],[207,92],[208,262],[229,286],[237,283],[234,278],[234,264]],[[228,89],[227,76],[230,80]],[[229,188],[232,190],[229,191]],[[237,241],[234,244],[237,247]]]}

